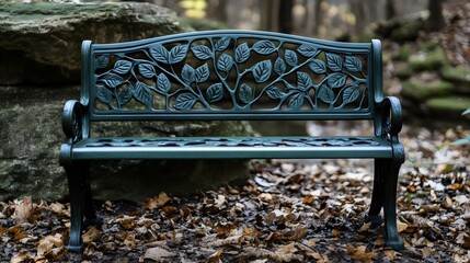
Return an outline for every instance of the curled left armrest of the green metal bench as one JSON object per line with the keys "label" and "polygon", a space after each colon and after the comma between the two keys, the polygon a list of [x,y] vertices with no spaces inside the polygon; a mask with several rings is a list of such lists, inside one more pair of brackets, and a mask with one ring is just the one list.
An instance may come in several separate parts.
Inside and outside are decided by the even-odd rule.
{"label": "curled left armrest of the green metal bench", "polygon": [[62,130],[69,144],[81,140],[84,136],[85,106],[77,100],[67,101],[64,105]]}

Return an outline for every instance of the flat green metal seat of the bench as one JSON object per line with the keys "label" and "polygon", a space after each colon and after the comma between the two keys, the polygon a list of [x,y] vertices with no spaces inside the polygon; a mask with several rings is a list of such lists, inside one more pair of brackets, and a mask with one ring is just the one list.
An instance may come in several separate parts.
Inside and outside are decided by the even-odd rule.
{"label": "flat green metal seat of the bench", "polygon": [[390,142],[372,136],[103,137],[84,139],[72,149],[76,160],[391,157]]}

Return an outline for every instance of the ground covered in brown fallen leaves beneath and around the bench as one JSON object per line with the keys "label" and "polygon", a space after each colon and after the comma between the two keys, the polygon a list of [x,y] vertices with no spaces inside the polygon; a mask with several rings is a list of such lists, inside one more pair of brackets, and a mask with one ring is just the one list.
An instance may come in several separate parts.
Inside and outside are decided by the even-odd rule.
{"label": "ground covered in brown fallen leaves beneath and around the bench", "polygon": [[[252,163],[240,188],[142,204],[96,203],[101,229],[67,253],[69,206],[24,197],[0,204],[0,262],[469,262],[469,148],[462,130],[404,130],[398,216],[405,250],[383,248],[364,220],[371,161]],[[34,196],[33,196],[34,197]]]}

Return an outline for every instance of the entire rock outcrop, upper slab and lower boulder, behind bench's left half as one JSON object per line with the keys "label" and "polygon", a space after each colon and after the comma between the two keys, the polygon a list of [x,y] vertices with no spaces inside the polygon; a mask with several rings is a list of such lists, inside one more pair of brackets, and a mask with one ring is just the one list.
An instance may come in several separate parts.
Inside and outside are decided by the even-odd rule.
{"label": "entire rock outcrop, upper slab and lower boulder, behind bench's left half", "polygon": [[[58,199],[68,193],[58,163],[61,111],[67,100],[80,98],[82,39],[125,42],[182,31],[173,11],[148,3],[0,3],[0,201]],[[251,133],[243,122],[102,124],[92,132],[98,136],[111,127],[142,136]],[[93,163],[92,171],[95,197],[141,201],[161,191],[188,194],[244,181],[248,165],[243,160],[107,161]]]}

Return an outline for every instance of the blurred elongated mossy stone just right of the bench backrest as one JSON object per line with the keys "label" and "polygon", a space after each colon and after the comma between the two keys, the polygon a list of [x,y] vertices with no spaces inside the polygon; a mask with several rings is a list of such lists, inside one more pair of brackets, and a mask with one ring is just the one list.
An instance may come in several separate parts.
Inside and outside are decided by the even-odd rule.
{"label": "blurred elongated mossy stone just right of the bench backrest", "polygon": [[402,95],[415,101],[423,101],[433,96],[449,95],[454,91],[454,84],[447,81],[422,81],[412,78],[403,82]]}

